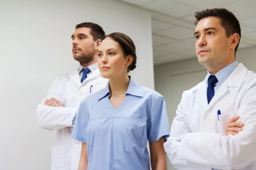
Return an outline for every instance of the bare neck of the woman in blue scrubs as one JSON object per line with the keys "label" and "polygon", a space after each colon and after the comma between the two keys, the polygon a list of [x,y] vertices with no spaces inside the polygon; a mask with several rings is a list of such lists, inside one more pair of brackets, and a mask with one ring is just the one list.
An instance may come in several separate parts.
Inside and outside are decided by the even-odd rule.
{"label": "bare neck of the woman in blue scrubs", "polygon": [[120,76],[114,79],[109,79],[109,88],[111,96],[122,96],[128,89],[130,79],[127,76]]}

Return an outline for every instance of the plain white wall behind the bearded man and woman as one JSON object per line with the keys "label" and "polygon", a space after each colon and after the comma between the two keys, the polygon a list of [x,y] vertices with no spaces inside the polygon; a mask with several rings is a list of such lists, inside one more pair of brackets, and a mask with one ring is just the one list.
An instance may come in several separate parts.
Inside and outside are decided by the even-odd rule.
{"label": "plain white wall behind the bearded man and woman", "polygon": [[0,16],[0,170],[50,169],[55,132],[38,127],[35,110],[53,78],[79,65],[71,44],[76,24],[128,34],[138,57],[131,75],[154,88],[148,12],[111,0],[5,0]]}

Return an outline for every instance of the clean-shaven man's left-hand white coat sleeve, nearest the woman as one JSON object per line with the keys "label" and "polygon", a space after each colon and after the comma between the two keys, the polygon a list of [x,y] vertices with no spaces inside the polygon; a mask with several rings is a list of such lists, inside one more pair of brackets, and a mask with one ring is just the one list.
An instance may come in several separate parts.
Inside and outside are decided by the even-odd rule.
{"label": "clean-shaven man's left-hand white coat sleeve, nearest the woman", "polygon": [[[186,91],[183,92],[182,98],[185,93]],[[186,125],[183,112],[183,108],[186,107],[186,103],[183,102],[182,98],[176,111],[176,117],[172,122],[170,137],[164,143],[164,148],[169,160],[177,170],[188,170],[188,168],[189,170],[198,170],[199,168],[205,168],[205,166],[202,166],[201,164],[193,164],[185,160],[179,160],[177,156],[177,148],[180,146],[180,141],[186,134],[190,133],[189,128]]]}

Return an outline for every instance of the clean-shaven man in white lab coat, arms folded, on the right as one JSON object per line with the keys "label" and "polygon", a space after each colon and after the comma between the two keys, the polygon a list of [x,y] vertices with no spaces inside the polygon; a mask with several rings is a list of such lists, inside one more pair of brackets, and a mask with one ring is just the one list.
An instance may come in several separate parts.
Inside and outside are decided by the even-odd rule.
{"label": "clean-shaven man in white lab coat, arms folded, on the right", "polygon": [[[178,170],[256,170],[256,74],[236,61],[239,21],[225,8],[194,15],[196,54],[208,74],[183,92],[166,153]],[[244,127],[225,135],[234,116]]]}

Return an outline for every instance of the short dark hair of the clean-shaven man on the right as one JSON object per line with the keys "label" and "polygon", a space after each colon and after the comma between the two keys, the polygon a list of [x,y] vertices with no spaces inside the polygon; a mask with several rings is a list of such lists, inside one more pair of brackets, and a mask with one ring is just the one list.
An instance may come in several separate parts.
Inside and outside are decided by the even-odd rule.
{"label": "short dark hair of the clean-shaven man on the right", "polygon": [[[195,26],[198,24],[198,22],[201,19],[204,19],[206,17],[218,17],[221,20],[221,26],[226,31],[226,37],[230,37],[232,34],[239,34],[239,42],[241,40],[241,28],[238,19],[233,14],[233,12],[227,10],[226,8],[205,8],[199,11],[194,12],[194,24]],[[237,48],[239,46],[239,42],[236,45],[235,48],[235,54],[237,51]]]}

